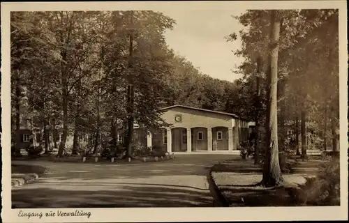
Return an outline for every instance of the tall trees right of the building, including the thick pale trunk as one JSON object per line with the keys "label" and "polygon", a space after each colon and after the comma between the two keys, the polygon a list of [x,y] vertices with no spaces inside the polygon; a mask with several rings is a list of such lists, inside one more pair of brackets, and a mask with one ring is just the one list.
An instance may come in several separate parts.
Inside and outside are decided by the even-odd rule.
{"label": "tall trees right of the building, including the thick pale trunk", "polygon": [[285,137],[290,121],[295,123],[296,153],[302,157],[306,130],[320,141],[316,149],[339,149],[338,10],[250,10],[236,19],[246,29],[227,39],[242,38],[242,49],[235,54],[246,59],[239,72],[262,139],[262,144],[256,140],[255,150],[265,151],[262,183],[279,185],[290,148]]}

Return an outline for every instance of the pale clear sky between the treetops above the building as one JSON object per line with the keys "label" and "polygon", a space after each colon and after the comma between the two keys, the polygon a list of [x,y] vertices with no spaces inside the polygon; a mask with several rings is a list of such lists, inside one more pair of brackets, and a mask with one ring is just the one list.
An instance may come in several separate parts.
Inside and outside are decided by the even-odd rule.
{"label": "pale clear sky between the treetops above the building", "polygon": [[233,16],[242,9],[230,10],[163,10],[176,20],[174,29],[165,33],[166,42],[174,52],[185,56],[193,66],[214,78],[233,82],[241,77],[236,72],[243,59],[232,54],[241,41],[227,42],[225,36],[243,28]]}

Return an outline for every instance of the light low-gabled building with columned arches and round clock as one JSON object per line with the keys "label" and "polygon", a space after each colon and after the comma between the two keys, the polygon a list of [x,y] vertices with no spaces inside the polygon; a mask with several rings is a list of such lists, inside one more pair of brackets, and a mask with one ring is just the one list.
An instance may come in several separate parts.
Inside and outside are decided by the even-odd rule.
{"label": "light low-gabled building with columned arches and round clock", "polygon": [[240,142],[248,140],[249,127],[253,125],[235,114],[184,105],[162,110],[170,127],[152,132],[136,128],[136,139],[144,146],[161,147],[169,153],[232,153]]}

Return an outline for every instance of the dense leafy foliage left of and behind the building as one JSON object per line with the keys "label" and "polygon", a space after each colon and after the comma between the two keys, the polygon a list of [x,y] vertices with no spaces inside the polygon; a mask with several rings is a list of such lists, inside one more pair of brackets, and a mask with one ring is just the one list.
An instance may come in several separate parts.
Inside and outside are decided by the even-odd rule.
{"label": "dense leafy foliage left of and behind the building", "polygon": [[74,153],[85,134],[94,151],[100,134],[117,141],[116,132],[127,132],[130,116],[144,130],[165,127],[161,108],[170,105],[245,112],[232,100],[236,83],[202,74],[168,47],[164,33],[175,21],[162,13],[31,12],[12,13],[11,19],[13,83],[19,74],[19,97],[25,97],[20,113],[33,116],[35,126],[62,127],[59,155],[68,136],[74,138]]}

